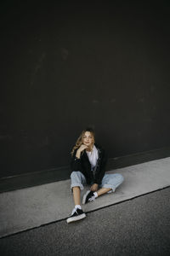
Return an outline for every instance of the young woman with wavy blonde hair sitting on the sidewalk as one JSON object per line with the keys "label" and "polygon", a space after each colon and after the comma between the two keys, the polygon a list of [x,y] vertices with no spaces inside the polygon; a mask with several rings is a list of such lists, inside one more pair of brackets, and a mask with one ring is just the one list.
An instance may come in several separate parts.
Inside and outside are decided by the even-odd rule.
{"label": "young woman with wavy blonde hair sitting on the sidewalk", "polygon": [[82,131],[71,152],[71,190],[75,207],[71,217],[67,218],[67,223],[86,217],[81,207],[83,185],[91,186],[82,199],[82,204],[86,204],[100,195],[114,192],[123,182],[121,174],[105,174],[106,160],[105,150],[95,144],[93,129]]}

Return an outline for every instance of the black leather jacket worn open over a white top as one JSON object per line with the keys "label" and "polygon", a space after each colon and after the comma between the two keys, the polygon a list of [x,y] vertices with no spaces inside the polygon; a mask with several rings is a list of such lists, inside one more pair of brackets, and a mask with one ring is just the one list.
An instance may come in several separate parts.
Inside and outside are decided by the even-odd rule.
{"label": "black leather jacket worn open over a white top", "polygon": [[88,184],[100,184],[102,178],[105,175],[105,166],[107,162],[105,150],[97,145],[95,146],[98,149],[99,158],[97,160],[94,172],[91,171],[91,164],[88,160],[88,154],[86,153],[86,150],[82,151],[80,159],[76,157],[77,149],[74,151],[74,154],[71,157],[71,172],[82,172],[82,174],[86,177]]}

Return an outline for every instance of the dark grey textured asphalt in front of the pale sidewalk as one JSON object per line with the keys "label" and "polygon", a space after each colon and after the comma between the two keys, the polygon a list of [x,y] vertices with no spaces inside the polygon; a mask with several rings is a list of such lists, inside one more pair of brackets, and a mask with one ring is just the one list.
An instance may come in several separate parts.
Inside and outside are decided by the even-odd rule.
{"label": "dark grey textured asphalt in front of the pale sidewalk", "polygon": [[170,188],[0,239],[3,256],[167,256]]}

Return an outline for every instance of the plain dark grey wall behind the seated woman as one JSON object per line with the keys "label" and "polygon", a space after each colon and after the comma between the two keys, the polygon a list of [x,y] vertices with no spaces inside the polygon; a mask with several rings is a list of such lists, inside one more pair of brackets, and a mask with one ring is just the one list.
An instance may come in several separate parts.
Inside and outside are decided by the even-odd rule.
{"label": "plain dark grey wall behind the seated woman", "polygon": [[1,3],[1,177],[68,165],[88,125],[109,157],[170,146],[169,6],[118,2]]}

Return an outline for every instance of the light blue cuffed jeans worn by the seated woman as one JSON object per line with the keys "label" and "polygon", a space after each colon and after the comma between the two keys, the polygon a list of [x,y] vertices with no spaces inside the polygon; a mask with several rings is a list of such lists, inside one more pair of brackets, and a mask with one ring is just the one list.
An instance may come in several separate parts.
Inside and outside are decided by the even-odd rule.
{"label": "light blue cuffed jeans worn by the seated woman", "polygon": [[[99,188],[111,189],[109,193],[111,193],[112,191],[115,192],[116,188],[123,182],[123,180],[124,177],[122,177],[122,174],[105,174]],[[80,189],[84,189],[84,185],[86,185],[86,177],[84,177],[82,172],[72,172],[71,189],[73,187],[80,187]]]}

